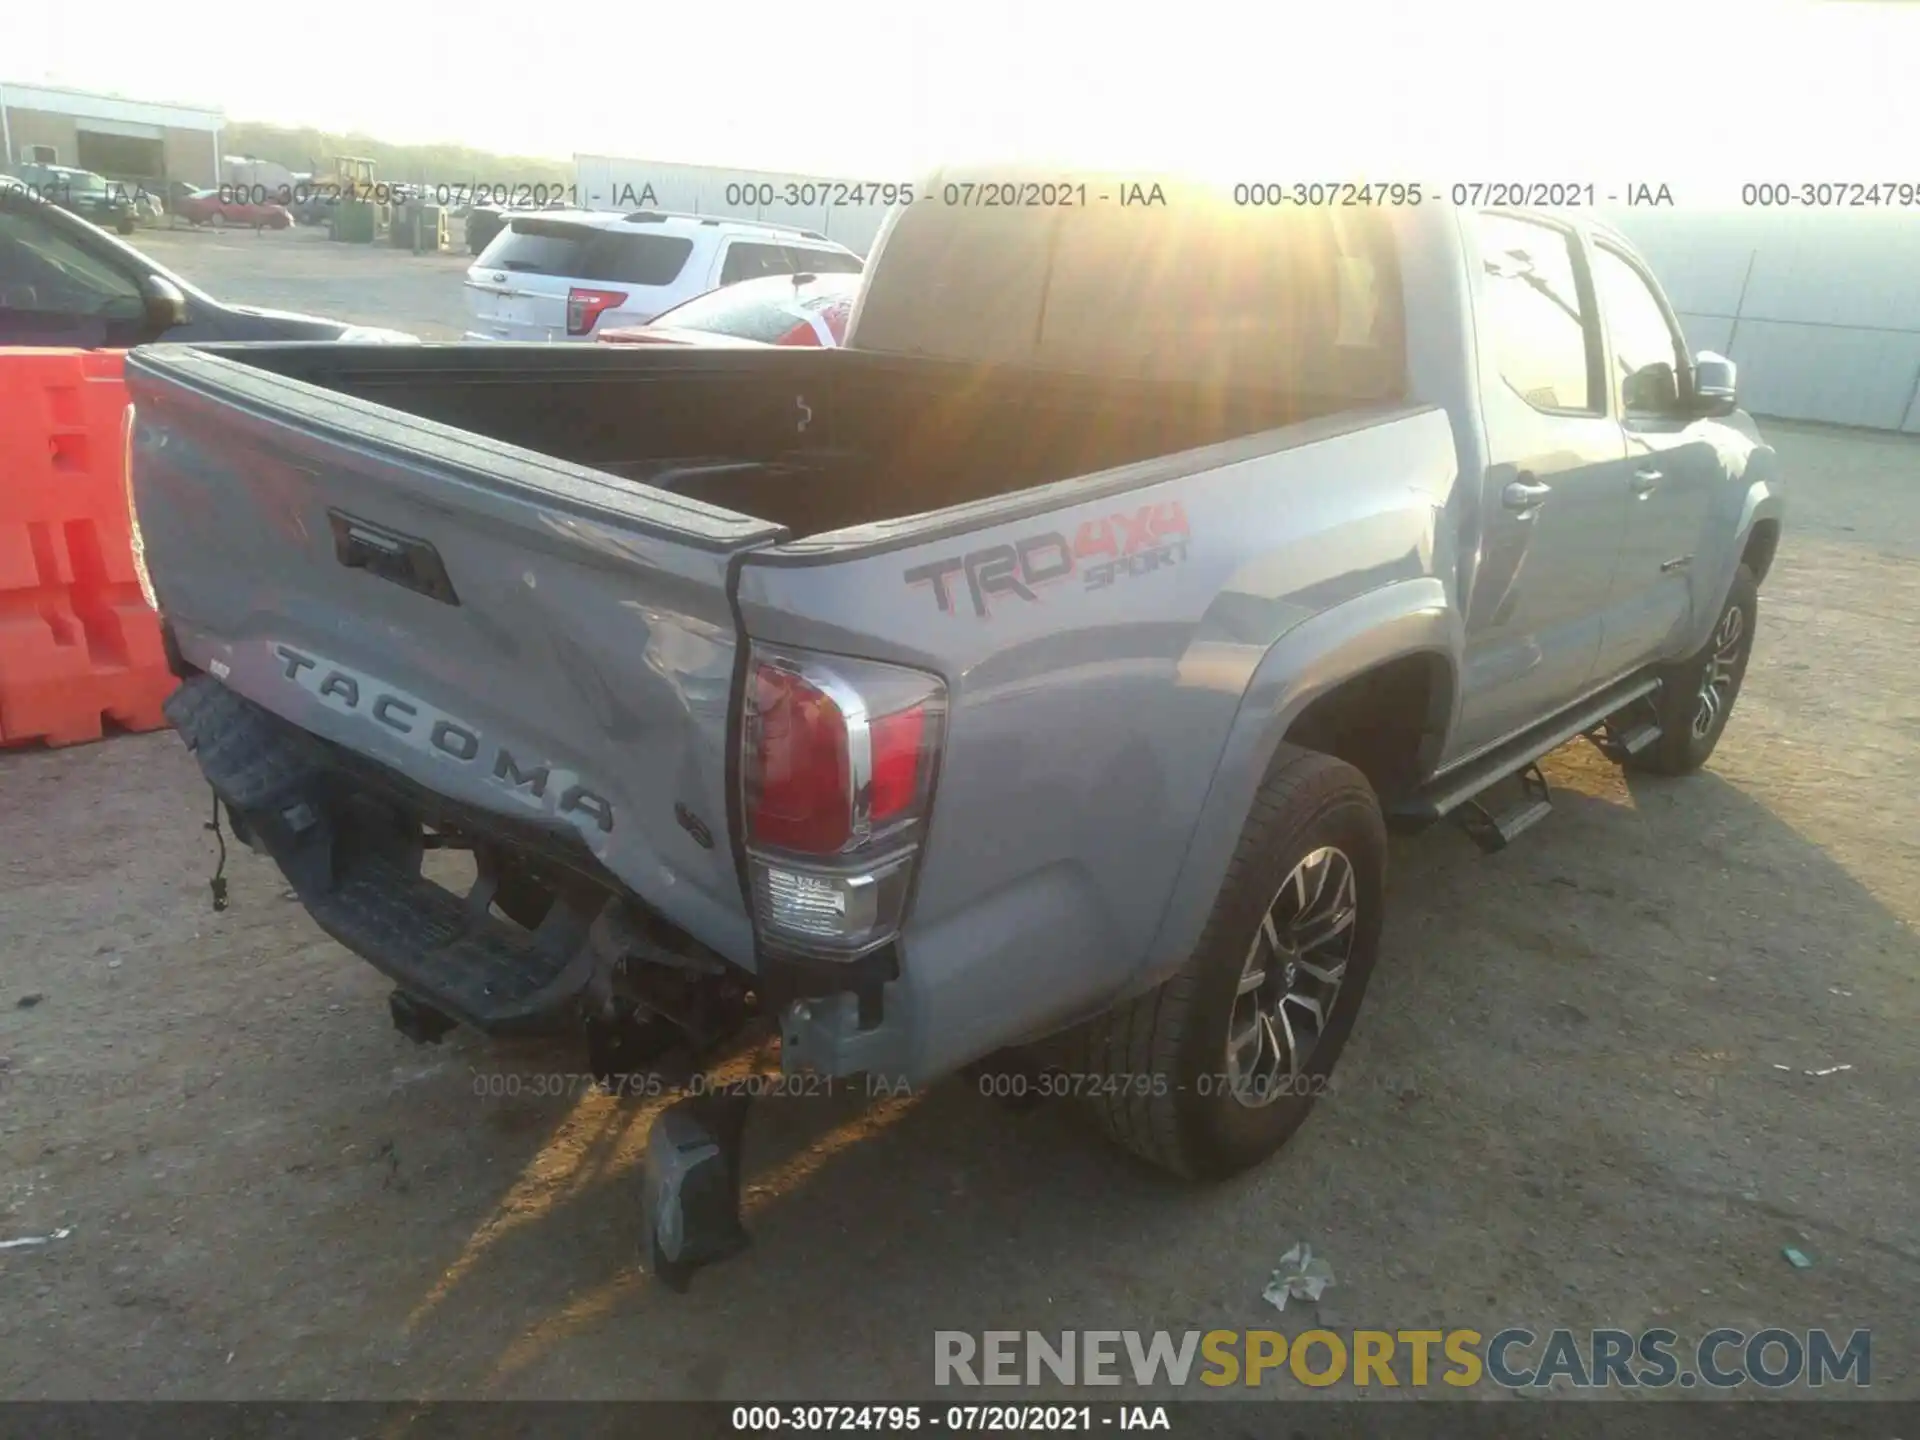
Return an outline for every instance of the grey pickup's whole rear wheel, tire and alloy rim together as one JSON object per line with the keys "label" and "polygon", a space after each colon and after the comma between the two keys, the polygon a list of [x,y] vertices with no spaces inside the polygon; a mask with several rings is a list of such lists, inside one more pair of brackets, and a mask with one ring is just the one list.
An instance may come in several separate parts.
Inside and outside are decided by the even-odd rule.
{"label": "grey pickup's whole rear wheel, tire and alloy rim together", "polygon": [[1164,985],[1069,1050],[1100,1123],[1135,1154],[1217,1179],[1279,1150],[1327,1091],[1373,975],[1380,806],[1352,766],[1283,747],[1213,914]]}

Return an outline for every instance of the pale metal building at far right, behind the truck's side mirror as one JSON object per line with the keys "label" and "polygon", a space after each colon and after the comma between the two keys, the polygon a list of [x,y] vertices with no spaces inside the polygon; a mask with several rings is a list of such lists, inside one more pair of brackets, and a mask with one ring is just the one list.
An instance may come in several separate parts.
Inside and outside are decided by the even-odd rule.
{"label": "pale metal building at far right, behind the truck's side mirror", "polygon": [[1688,344],[1755,415],[1920,434],[1920,213],[1634,209]]}

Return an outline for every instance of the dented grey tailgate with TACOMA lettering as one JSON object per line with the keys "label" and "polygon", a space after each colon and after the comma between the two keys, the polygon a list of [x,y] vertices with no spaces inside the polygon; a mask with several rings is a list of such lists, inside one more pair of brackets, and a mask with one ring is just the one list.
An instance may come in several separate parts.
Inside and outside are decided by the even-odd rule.
{"label": "dented grey tailgate with TACOMA lettering", "polygon": [[146,566],[190,664],[440,795],[576,833],[753,964],[728,568],[778,526],[223,353],[146,348],[127,378]]}

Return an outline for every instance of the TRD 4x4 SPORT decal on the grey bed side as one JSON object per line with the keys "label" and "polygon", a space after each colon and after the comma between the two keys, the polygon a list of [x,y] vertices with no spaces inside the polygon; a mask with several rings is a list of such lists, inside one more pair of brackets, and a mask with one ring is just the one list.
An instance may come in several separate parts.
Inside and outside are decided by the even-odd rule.
{"label": "TRD 4x4 SPORT decal on the grey bed side", "polygon": [[943,614],[954,611],[954,576],[964,578],[973,614],[993,614],[995,595],[1037,601],[1039,588],[1083,576],[1087,589],[1106,589],[1117,580],[1142,576],[1187,559],[1187,509],[1175,499],[1142,505],[1127,515],[1087,520],[1069,541],[1046,530],[1012,543],[983,545],[966,555],[916,564],[902,578],[931,586]]}

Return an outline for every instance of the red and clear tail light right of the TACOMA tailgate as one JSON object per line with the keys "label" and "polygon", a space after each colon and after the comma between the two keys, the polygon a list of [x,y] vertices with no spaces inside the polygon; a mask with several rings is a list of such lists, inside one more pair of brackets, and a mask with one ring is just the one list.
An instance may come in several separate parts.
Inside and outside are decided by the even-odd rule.
{"label": "red and clear tail light right of the TACOMA tailgate", "polygon": [[741,774],[770,941],[854,958],[899,933],[945,730],[935,676],[755,647]]}

